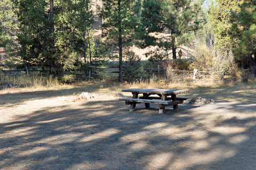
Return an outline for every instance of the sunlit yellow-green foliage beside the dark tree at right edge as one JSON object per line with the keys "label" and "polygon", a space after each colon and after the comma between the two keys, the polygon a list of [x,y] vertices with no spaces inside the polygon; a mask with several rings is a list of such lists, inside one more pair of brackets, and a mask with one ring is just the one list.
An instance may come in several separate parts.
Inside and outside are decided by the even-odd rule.
{"label": "sunlit yellow-green foliage beside the dark tree at right edge", "polygon": [[239,13],[243,1],[237,0],[217,0],[212,1],[210,6],[209,20],[215,32],[215,45],[218,48],[229,50],[232,46],[230,38],[230,22],[231,13]]}

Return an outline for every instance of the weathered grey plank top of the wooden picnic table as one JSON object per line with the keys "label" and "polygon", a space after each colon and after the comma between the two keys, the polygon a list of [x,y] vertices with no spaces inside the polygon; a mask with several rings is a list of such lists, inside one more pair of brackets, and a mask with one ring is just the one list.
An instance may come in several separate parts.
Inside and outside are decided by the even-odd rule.
{"label": "weathered grey plank top of the wooden picnic table", "polygon": [[166,94],[178,95],[187,94],[189,90],[174,90],[174,89],[123,89],[123,92],[138,92],[140,94]]}

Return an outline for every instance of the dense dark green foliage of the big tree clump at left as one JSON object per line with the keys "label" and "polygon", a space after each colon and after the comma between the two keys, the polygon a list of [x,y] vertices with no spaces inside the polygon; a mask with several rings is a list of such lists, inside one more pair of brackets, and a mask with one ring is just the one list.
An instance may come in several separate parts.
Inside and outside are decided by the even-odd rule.
{"label": "dense dark green foliage of the big tree clump at left", "polygon": [[73,67],[92,23],[88,0],[17,0],[20,55],[25,63],[50,66],[54,75]]}

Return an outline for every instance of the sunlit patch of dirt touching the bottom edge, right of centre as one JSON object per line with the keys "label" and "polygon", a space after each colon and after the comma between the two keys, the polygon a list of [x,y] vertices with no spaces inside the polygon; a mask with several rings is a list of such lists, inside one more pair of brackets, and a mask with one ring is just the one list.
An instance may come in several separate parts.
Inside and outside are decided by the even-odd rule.
{"label": "sunlit patch of dirt touching the bottom edge, right of centre", "polygon": [[151,162],[146,166],[145,169],[164,168],[166,165],[169,164],[172,157],[173,155],[169,152],[157,154],[151,158]]}

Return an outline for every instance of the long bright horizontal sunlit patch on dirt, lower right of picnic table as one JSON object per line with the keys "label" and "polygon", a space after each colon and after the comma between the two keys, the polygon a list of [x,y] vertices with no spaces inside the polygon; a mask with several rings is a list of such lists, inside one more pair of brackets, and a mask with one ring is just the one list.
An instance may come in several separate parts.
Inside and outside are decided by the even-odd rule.
{"label": "long bright horizontal sunlit patch on dirt, lower right of picnic table", "polygon": [[219,126],[209,129],[209,131],[217,132],[220,134],[234,134],[234,133],[242,133],[246,131],[246,128],[241,128],[237,126]]}

